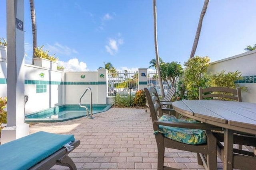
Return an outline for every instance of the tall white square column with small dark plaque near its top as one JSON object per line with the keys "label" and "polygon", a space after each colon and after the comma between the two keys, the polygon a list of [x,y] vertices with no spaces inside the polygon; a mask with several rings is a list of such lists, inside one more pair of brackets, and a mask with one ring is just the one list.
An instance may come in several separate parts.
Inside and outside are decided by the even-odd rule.
{"label": "tall white square column with small dark plaque near its top", "polygon": [[24,0],[7,0],[7,126],[1,144],[29,134],[24,123]]}

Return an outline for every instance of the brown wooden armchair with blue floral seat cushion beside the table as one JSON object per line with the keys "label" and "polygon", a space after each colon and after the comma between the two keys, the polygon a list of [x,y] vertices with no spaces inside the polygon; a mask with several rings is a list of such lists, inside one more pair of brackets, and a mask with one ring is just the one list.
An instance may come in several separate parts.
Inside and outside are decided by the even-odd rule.
{"label": "brown wooden armchair with blue floral seat cushion beside the table", "polygon": [[165,148],[198,152],[198,164],[209,170],[217,169],[217,141],[211,130],[221,129],[196,121],[180,120],[165,115],[154,87],[144,88],[158,149],[158,170],[175,169],[164,166]]}

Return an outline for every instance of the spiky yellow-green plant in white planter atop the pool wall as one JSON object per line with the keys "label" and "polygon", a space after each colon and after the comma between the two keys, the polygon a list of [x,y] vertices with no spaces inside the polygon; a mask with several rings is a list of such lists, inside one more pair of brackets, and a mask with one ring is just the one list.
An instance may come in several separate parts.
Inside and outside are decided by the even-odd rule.
{"label": "spiky yellow-green plant in white planter atop the pool wall", "polygon": [[54,55],[49,55],[48,50],[43,50],[44,45],[42,45],[40,48],[37,47],[35,49],[34,53],[34,65],[44,67],[44,68],[50,68],[51,70],[57,70],[57,61],[58,57],[55,57]]}

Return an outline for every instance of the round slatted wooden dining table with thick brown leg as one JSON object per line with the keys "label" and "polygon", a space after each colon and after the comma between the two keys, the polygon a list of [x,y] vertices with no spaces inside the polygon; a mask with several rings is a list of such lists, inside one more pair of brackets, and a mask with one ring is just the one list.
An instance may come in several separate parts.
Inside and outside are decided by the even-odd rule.
{"label": "round slatted wooden dining table with thick brown leg", "polygon": [[256,135],[256,103],[180,100],[172,107],[177,113],[224,129],[224,170],[232,170],[234,131]]}

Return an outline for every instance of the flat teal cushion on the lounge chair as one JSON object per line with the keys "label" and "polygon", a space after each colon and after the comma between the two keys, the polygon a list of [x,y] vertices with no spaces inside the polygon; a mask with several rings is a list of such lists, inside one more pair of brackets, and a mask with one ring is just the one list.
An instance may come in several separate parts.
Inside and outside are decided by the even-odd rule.
{"label": "flat teal cushion on the lounge chair", "polygon": [[74,135],[40,131],[5,143],[0,145],[0,169],[26,170],[74,140]]}

